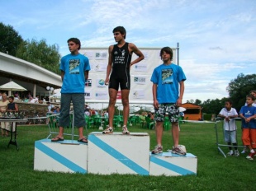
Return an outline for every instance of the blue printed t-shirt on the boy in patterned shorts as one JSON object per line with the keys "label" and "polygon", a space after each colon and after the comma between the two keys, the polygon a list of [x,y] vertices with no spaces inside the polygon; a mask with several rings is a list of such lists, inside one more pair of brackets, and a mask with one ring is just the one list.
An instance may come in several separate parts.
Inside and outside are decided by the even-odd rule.
{"label": "blue printed t-shirt on the boy in patterned shorts", "polygon": [[159,104],[176,103],[179,96],[178,84],[186,79],[183,68],[174,63],[161,64],[154,68],[150,81],[158,85],[157,100]]}

